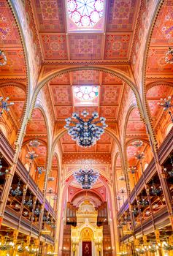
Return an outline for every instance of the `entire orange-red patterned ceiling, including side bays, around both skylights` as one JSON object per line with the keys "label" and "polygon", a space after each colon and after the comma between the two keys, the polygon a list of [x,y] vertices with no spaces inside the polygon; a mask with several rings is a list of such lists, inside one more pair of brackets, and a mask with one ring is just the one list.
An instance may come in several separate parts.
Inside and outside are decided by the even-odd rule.
{"label": "entire orange-red patterned ceiling, including side bays, around both skylights", "polygon": [[[135,53],[137,59],[141,54],[142,35],[150,23],[150,20],[147,20],[150,1],[107,0],[105,2],[101,22],[93,27],[93,31],[88,32],[74,28],[76,25],[68,18],[66,12],[67,0],[23,1],[31,28],[29,33],[34,40],[34,53],[36,58],[41,56],[40,77],[58,68],[76,67],[75,65],[79,64],[81,66],[99,64],[99,67],[109,65],[110,68],[134,79],[132,55]],[[4,97],[10,96],[12,102],[15,102],[11,113],[18,127],[27,94],[26,61],[18,26],[9,5],[6,0],[0,0],[0,3],[0,49],[5,50],[8,60],[7,65],[1,67],[0,80],[5,83],[5,86],[1,86],[1,94]],[[172,8],[170,1],[164,1],[153,28],[147,56],[146,94],[154,127],[158,124],[158,116],[161,116],[158,100],[172,94],[172,88],[164,84],[165,81],[171,81],[173,74],[172,64],[166,64],[164,60],[168,46],[172,46]],[[139,65],[136,68],[139,71]],[[18,86],[14,82],[18,83]],[[151,86],[151,83],[155,82],[159,84]],[[98,86],[98,98],[94,99],[92,104],[88,102],[82,104],[74,97],[74,86]],[[126,114],[124,105],[128,103],[130,105],[126,83],[115,75],[94,69],[76,69],[59,75],[50,80],[41,91],[43,90],[53,120],[60,127],[64,127],[64,119],[73,112],[81,113],[86,109],[89,113],[98,111],[99,116],[106,117],[109,127],[117,132],[118,125],[119,129],[122,128],[120,122],[123,120],[122,116]],[[54,127],[53,131],[56,131]],[[28,123],[24,142],[33,138],[42,140],[45,147],[47,127],[39,109],[34,110],[32,119]],[[128,117],[126,142],[135,138],[147,140],[145,125],[137,108],[134,108]],[[64,153],[85,151],[110,154],[113,147],[112,138],[107,133],[101,137],[96,146],[87,149],[77,146],[67,134],[61,138],[61,148]],[[43,149],[46,155],[46,148]],[[128,143],[127,152],[129,161],[131,164],[134,163],[134,148],[131,143]]]}

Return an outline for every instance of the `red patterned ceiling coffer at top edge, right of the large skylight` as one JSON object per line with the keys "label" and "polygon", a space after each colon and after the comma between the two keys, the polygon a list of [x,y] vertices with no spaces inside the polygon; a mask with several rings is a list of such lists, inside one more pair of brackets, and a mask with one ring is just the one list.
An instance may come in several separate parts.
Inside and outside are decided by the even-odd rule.
{"label": "red patterned ceiling coffer at top edge, right of the large skylight", "polygon": [[134,29],[138,0],[109,1],[107,31],[131,31]]}

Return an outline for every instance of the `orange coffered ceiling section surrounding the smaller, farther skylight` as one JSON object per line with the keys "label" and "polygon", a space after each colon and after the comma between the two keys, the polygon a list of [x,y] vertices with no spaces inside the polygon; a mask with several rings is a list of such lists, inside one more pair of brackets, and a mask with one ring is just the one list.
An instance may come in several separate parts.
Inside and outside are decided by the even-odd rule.
{"label": "orange coffered ceiling section surrounding the smaller, farther skylight", "polygon": [[[107,82],[104,84],[104,82]],[[76,105],[72,86],[99,86],[99,101],[96,106],[90,107],[88,103]],[[72,112],[82,113],[88,110],[91,114],[99,112],[100,116],[116,121],[123,94],[123,82],[115,76],[95,70],[75,71],[54,78],[49,83],[50,94],[55,108],[57,121],[64,121]],[[72,149],[72,146],[71,146]]]}

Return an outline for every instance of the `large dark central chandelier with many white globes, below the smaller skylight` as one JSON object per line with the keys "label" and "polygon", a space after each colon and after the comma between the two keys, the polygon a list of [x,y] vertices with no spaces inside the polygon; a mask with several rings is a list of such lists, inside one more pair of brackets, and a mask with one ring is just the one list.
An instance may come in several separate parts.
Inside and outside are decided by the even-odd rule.
{"label": "large dark central chandelier with many white globes, below the smaller skylight", "polygon": [[[98,113],[92,113],[92,117],[86,120],[89,113],[84,110],[80,118],[78,113],[73,113],[72,118],[66,118],[65,128],[68,130],[69,135],[73,140],[77,140],[77,143],[82,147],[93,146],[96,140],[100,139],[100,136],[104,133],[104,129],[107,127],[105,123],[106,118],[100,117]],[[77,121],[73,121],[76,119]],[[93,121],[97,119],[96,121]]]}

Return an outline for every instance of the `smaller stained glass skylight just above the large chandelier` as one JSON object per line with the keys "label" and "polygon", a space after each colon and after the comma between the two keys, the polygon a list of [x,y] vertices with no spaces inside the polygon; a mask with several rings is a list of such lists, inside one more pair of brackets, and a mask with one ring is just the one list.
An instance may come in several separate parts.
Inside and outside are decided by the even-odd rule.
{"label": "smaller stained glass skylight just above the large chandelier", "polygon": [[92,100],[99,95],[98,86],[75,86],[74,96],[80,100]]}

